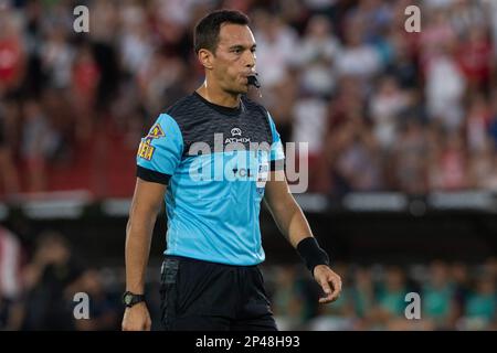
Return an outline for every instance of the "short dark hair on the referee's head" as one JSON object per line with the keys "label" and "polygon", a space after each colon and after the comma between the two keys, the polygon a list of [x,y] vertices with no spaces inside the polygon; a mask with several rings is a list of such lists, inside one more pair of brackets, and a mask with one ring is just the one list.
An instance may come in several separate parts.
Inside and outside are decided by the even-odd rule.
{"label": "short dark hair on the referee's head", "polygon": [[218,10],[209,13],[195,25],[193,36],[195,53],[199,53],[201,49],[207,49],[212,53],[215,52],[219,43],[219,31],[223,23],[247,25],[250,20],[246,14],[235,10]]}

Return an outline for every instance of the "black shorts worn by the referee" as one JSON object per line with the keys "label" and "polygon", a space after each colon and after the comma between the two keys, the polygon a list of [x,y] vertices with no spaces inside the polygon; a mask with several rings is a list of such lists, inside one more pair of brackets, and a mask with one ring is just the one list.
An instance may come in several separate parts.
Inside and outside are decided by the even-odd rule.
{"label": "black shorts worn by the referee", "polygon": [[166,256],[160,298],[166,330],[277,330],[257,266]]}

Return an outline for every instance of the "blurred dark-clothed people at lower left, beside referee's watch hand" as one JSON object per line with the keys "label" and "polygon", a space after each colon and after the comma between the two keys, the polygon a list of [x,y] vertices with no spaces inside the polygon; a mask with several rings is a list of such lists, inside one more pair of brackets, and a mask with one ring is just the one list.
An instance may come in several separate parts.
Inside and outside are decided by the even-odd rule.
{"label": "blurred dark-clothed people at lower left, beside referee's watch hand", "polygon": [[[60,232],[25,235],[0,226],[0,331],[118,330],[124,285],[83,261]],[[87,295],[87,311],[76,293]],[[91,320],[75,319],[84,313]]]}

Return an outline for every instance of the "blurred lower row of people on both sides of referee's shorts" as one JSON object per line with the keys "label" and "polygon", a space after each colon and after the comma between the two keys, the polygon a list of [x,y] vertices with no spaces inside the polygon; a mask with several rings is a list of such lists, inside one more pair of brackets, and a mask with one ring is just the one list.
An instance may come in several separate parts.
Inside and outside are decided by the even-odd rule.
{"label": "blurred lower row of people on both sides of referee's shorts", "polygon": [[[25,247],[0,227],[0,330],[119,330],[124,268],[88,267],[81,256],[61,233],[44,231]],[[154,330],[161,330],[159,265],[146,288]],[[304,265],[265,263],[262,270],[281,330],[497,330],[497,258],[337,263],[343,290],[329,306],[318,304],[322,293]],[[88,296],[88,320],[75,319],[78,292]]]}

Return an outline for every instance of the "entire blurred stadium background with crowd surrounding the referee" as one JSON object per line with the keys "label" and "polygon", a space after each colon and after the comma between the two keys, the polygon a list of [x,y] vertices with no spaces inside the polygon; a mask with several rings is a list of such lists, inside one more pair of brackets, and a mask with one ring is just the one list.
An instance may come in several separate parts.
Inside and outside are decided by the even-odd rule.
{"label": "entire blurred stadium background with crowd surrounding the referee", "polygon": [[[73,31],[78,4],[89,33]],[[309,143],[296,196],[345,282],[318,306],[264,211],[281,329],[497,329],[497,1],[0,0],[0,330],[120,328],[137,146],[201,84],[191,33],[219,8],[252,18],[256,99],[284,141]],[[78,291],[91,320],[73,318]],[[404,318],[410,291],[421,320]]]}

